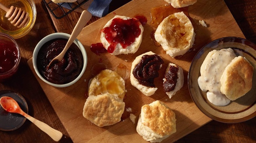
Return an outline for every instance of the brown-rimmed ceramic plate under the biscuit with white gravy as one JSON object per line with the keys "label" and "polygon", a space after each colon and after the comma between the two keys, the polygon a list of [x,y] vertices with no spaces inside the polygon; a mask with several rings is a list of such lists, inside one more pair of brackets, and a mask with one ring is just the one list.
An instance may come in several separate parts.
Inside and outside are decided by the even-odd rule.
{"label": "brown-rimmed ceramic plate under the biscuit with white gravy", "polygon": [[[206,92],[200,89],[197,79],[207,54],[212,50],[224,48],[232,48],[237,56],[245,57],[254,67],[252,88],[228,105],[216,106],[208,101]],[[256,51],[254,49],[256,45],[246,39],[225,37],[205,45],[194,57],[188,73],[188,88],[193,101],[206,116],[224,123],[243,122],[256,116]]]}

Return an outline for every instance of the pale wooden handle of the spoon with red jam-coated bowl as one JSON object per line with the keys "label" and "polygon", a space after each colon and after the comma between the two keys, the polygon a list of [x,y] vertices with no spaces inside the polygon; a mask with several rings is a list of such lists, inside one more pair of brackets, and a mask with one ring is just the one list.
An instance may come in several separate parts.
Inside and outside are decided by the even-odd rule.
{"label": "pale wooden handle of the spoon with red jam-coated bowl", "polygon": [[47,125],[44,122],[34,119],[33,117],[29,116],[26,113],[25,113],[24,117],[29,119],[39,129],[41,129],[43,132],[45,132],[47,135],[49,135],[54,141],[59,141],[61,139],[62,133],[60,131],[53,129],[52,127],[50,127],[49,125]]}

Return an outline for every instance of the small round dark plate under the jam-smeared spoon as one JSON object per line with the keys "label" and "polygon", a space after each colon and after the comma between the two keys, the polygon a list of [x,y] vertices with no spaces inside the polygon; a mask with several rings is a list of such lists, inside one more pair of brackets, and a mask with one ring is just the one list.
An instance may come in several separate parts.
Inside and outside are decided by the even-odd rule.
{"label": "small round dark plate under the jam-smeared spoon", "polygon": [[[0,91],[0,98],[3,96],[8,96],[13,98],[20,106],[20,108],[25,112],[28,113],[28,105],[25,99],[18,93],[15,93],[11,90],[1,90]],[[13,131],[21,127],[25,122],[26,118],[16,114],[16,113],[9,113],[3,109],[0,105],[0,130],[2,131]]]}

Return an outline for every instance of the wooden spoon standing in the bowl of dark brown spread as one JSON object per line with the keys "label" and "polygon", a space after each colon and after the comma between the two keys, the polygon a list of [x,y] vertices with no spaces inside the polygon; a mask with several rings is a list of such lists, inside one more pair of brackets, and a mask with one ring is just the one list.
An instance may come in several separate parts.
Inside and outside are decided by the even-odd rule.
{"label": "wooden spoon standing in the bowl of dark brown spread", "polygon": [[92,18],[92,14],[86,10],[84,10],[77,22],[77,24],[75,25],[75,28],[73,30],[73,32],[71,33],[71,36],[66,44],[66,46],[64,47],[63,51],[56,57],[53,58],[53,60],[49,63],[49,65],[47,66],[47,69],[49,69],[50,65],[56,61],[61,61],[62,58],[64,57],[65,53],[67,52],[67,50],[69,49],[70,45],[75,41],[76,37],[78,36],[78,34],[81,32],[81,30],[84,28],[85,24],[88,23],[88,21]]}

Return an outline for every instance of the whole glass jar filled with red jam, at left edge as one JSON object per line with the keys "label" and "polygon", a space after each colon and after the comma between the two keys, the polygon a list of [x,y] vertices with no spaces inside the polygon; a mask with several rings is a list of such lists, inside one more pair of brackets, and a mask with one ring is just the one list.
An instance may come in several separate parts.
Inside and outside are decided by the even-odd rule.
{"label": "whole glass jar filled with red jam, at left edge", "polygon": [[18,69],[20,50],[8,34],[0,33],[0,81],[11,77]]}

